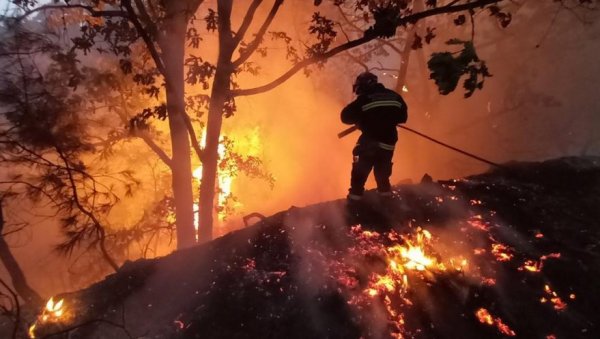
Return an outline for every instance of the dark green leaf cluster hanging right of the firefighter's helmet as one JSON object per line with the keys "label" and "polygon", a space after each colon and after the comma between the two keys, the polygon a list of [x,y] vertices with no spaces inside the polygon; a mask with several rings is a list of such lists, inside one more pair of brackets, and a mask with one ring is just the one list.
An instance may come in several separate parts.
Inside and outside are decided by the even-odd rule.
{"label": "dark green leaf cluster hanging right of the firefighter's helmet", "polygon": [[447,44],[462,45],[463,49],[457,56],[457,53],[451,52],[433,53],[427,62],[431,71],[429,78],[435,81],[440,94],[447,95],[456,89],[460,78],[466,75],[463,87],[466,90],[465,97],[468,98],[475,90],[482,89],[485,78],[492,75],[485,62],[477,56],[472,42],[453,39]]}

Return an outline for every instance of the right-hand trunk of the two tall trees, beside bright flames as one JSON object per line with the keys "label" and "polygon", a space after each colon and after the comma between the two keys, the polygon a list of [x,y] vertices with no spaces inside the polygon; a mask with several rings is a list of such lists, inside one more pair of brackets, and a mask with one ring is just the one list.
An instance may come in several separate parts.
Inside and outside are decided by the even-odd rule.
{"label": "right-hand trunk of the two tall trees, beside bright flames", "polygon": [[210,97],[206,123],[206,147],[202,159],[202,182],[200,184],[200,225],[198,240],[205,242],[213,237],[213,215],[217,165],[219,163],[219,138],[223,125],[223,108],[229,97],[230,80],[234,67],[231,62],[235,43],[231,33],[232,0],[219,0],[219,58]]}

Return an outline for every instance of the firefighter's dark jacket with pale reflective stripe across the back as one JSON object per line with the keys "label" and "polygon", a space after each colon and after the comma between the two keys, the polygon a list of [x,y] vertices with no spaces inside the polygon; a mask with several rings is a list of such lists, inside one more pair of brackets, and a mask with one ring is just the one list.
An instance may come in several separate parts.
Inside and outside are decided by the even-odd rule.
{"label": "firefighter's dark jacket with pale reflective stripe across the back", "polygon": [[393,149],[398,141],[396,125],[406,122],[407,106],[398,93],[378,83],[346,106],[341,119],[362,131],[359,144],[377,142]]}

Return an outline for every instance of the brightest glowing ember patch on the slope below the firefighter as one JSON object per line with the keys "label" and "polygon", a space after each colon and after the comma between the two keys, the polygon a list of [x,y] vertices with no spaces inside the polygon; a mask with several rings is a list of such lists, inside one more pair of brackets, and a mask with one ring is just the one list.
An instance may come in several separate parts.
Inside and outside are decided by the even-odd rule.
{"label": "brightest glowing ember patch on the slope below the firefighter", "polygon": [[383,307],[392,337],[410,336],[404,328],[405,311],[413,306],[411,293],[418,288],[416,285],[434,284],[436,276],[463,274],[468,268],[468,261],[463,257],[442,259],[435,249],[437,239],[422,228],[408,234],[394,230],[380,234],[354,226],[351,233],[357,239],[350,249],[351,254],[359,259],[367,258],[370,272],[361,276],[364,268],[346,267],[338,270],[341,274],[337,281],[349,290],[348,304],[357,310]]}

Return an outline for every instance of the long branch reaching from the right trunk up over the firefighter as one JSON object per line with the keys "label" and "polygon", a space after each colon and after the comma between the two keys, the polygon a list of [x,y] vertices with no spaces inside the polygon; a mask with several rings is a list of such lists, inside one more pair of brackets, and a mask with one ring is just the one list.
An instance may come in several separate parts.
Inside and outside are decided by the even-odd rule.
{"label": "long branch reaching from the right trunk up over the firefighter", "polygon": [[[430,9],[430,10],[415,13],[412,15],[408,15],[404,18],[401,18],[398,21],[398,26],[405,25],[407,23],[414,23],[416,21],[419,21],[419,20],[422,20],[424,18],[428,18],[431,16],[435,16],[435,15],[462,12],[465,10],[469,10],[469,9],[473,9],[473,8],[477,8],[477,7],[484,7],[484,6],[493,4],[493,3],[499,3],[499,2],[503,2],[503,1],[505,1],[505,0],[477,0],[477,1],[469,2],[469,3],[461,4],[461,5],[456,5],[456,6],[447,5],[447,6],[443,6],[443,7],[436,7],[436,8]],[[365,34],[361,38],[348,41],[345,44],[339,45],[321,55],[316,55],[311,58],[304,59],[304,60],[298,62],[297,64],[292,66],[292,68],[290,68],[287,72],[283,73],[279,78],[271,81],[270,83],[267,83],[265,85],[258,86],[255,88],[232,90],[230,92],[230,95],[231,96],[246,96],[246,95],[255,95],[255,94],[259,94],[259,93],[264,93],[266,91],[269,91],[269,90],[281,85],[286,80],[291,78],[294,74],[296,74],[298,71],[300,71],[301,69],[303,69],[307,66],[315,64],[317,62],[322,62],[324,60],[327,60],[341,52],[344,52],[351,48],[360,46],[360,45],[365,44],[376,38],[377,38],[377,36],[375,36],[375,35]]]}

